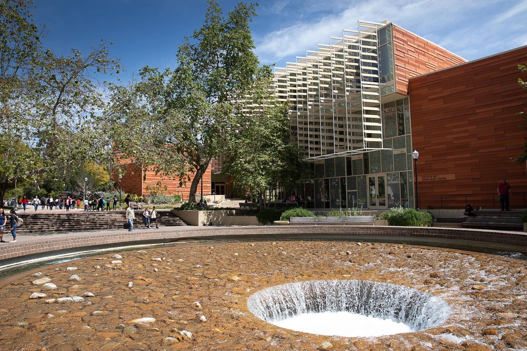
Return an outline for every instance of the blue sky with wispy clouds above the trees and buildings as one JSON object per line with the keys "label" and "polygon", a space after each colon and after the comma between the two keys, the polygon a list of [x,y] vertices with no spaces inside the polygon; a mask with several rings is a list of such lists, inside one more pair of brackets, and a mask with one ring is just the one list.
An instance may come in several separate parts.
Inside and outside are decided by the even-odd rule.
{"label": "blue sky with wispy clouds above the trees and buildings", "polygon": [[[236,1],[219,0],[223,11]],[[114,42],[128,73],[144,65],[173,67],[178,44],[203,23],[206,1],[35,0],[35,22],[45,23],[44,43],[57,54],[71,47],[87,51],[102,38]],[[281,0],[260,2],[251,25],[256,53],[266,64],[283,66],[305,55],[357,19],[408,29],[472,60],[527,44],[527,0]]]}

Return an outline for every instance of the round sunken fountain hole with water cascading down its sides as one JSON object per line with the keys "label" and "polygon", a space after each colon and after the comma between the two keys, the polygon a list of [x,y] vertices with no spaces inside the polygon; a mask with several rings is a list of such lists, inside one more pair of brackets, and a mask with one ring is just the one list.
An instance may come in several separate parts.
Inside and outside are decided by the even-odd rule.
{"label": "round sunken fountain hole with water cascading down its sides", "polygon": [[450,307],[417,289],[369,280],[310,280],[260,290],[247,299],[276,326],[346,337],[418,332],[445,322]]}

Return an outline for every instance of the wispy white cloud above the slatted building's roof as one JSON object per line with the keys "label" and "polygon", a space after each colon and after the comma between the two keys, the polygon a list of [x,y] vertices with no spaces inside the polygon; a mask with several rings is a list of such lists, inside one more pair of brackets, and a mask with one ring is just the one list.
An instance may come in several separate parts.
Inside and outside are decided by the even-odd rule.
{"label": "wispy white cloud above the slatted building's roof", "polygon": [[327,13],[333,3],[320,2],[325,14],[316,17],[311,9],[301,21],[285,22],[289,25],[256,38],[261,61],[278,66],[294,61],[306,49],[315,50],[317,43],[329,43],[329,36],[341,36],[342,28],[356,29],[358,19],[387,19],[467,59],[526,44],[525,28],[519,24],[524,23],[527,0],[363,0],[345,7],[335,0],[335,5],[338,10]]}

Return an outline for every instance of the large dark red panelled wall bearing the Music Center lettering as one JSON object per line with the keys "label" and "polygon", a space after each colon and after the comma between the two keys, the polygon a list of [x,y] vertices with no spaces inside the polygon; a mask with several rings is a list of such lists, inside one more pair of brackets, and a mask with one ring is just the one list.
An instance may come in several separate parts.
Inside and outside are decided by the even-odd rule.
{"label": "large dark red panelled wall bearing the Music Center lettering", "polygon": [[[511,206],[525,207],[525,165],[510,159],[526,140],[527,89],[518,84],[518,64],[527,47],[409,79],[413,147],[419,152],[418,175],[455,175],[455,179],[419,182],[421,208],[498,207],[493,203],[502,178],[512,186]],[[516,194],[516,195],[514,195]]]}

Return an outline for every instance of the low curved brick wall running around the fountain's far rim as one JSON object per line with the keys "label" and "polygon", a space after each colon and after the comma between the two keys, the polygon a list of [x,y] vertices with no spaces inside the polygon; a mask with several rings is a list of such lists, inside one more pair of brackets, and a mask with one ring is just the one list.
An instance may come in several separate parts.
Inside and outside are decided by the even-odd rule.
{"label": "low curved brick wall running around the fountain's far rim", "polygon": [[[106,231],[69,233],[65,235],[24,236],[18,243],[0,246],[0,266],[2,260],[23,256],[50,256],[54,251],[70,250],[83,251],[96,246],[110,246],[116,244],[149,244],[153,242],[173,242],[178,239],[221,239],[221,238],[347,238],[355,236],[354,240],[367,240],[371,237],[382,237],[383,240],[418,238],[431,242],[449,242],[457,240],[460,243],[511,249],[527,252],[527,235],[523,232],[501,232],[499,230],[457,229],[441,227],[392,227],[392,226],[240,226],[240,227],[165,227],[163,229],[134,230],[133,232]],[[394,238],[395,239],[395,238]],[[79,248],[79,249],[76,249]],[[42,255],[46,253],[45,255]],[[35,258],[35,257],[33,257]]]}

